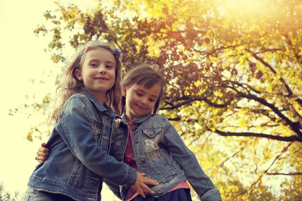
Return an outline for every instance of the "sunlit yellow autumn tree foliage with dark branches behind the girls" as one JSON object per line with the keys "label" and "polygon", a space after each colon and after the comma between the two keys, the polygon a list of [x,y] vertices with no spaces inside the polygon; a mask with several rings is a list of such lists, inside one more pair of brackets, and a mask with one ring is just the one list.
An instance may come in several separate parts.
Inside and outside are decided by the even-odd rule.
{"label": "sunlit yellow autumn tree foliage with dark branches behind the girls", "polygon": [[300,1],[116,0],[88,11],[55,4],[34,31],[53,36],[45,51],[54,62],[65,61],[64,48],[99,39],[121,49],[125,70],[161,65],[169,81],[161,113],[224,200],[301,198]]}

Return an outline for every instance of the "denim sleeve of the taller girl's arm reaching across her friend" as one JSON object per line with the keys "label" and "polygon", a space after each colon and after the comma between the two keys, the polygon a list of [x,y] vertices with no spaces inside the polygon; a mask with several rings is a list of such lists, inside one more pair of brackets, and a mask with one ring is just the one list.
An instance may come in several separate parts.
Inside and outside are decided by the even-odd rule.
{"label": "denim sleeve of the taller girl's arm reaching across her friend", "polygon": [[71,97],[66,103],[57,131],[72,154],[86,167],[116,185],[133,185],[136,170],[118,162],[98,146],[91,121],[91,107],[82,97]]}

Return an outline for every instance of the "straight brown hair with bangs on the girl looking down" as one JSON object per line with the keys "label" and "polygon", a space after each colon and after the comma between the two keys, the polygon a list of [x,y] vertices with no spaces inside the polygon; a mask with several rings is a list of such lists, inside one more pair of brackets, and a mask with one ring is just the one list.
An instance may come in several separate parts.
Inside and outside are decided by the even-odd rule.
{"label": "straight brown hair with bangs on the girl looking down", "polygon": [[[163,99],[163,94],[167,90],[167,83],[159,71],[159,66],[154,64],[142,64],[131,68],[123,76],[123,85],[130,88],[133,84],[143,84],[145,88],[151,88],[154,84],[160,83],[161,91],[154,105],[152,114],[158,113]],[[126,99],[122,96],[122,109],[125,112]]]}

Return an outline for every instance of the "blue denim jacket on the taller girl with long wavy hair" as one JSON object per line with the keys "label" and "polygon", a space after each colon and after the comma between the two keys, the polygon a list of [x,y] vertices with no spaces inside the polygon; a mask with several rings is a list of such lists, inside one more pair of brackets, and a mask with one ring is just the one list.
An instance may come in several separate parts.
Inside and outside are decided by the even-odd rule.
{"label": "blue denim jacket on the taller girl with long wavy hair", "polygon": [[72,95],[46,144],[48,159],[37,165],[28,186],[75,200],[100,200],[103,178],[133,185],[136,170],[108,155],[116,117],[87,90]]}

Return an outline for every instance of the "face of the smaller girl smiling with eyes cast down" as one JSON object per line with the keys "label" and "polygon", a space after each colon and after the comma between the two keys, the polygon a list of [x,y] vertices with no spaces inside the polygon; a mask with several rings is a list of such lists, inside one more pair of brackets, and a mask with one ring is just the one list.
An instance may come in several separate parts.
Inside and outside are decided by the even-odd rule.
{"label": "face of the smaller girl smiling with eyes cast down", "polygon": [[143,87],[143,84],[133,84],[124,90],[126,97],[126,119],[132,121],[137,116],[149,114],[161,92],[161,84],[156,83],[151,88]]}

